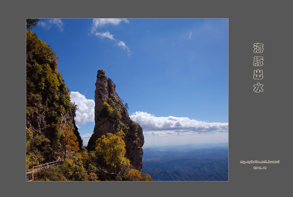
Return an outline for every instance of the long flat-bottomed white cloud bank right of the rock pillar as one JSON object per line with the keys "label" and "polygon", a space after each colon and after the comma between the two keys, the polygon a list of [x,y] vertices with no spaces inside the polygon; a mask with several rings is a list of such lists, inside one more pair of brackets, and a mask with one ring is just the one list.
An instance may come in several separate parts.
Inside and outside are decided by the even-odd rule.
{"label": "long flat-bottomed white cloud bank right of the rock pillar", "polygon": [[147,112],[135,112],[130,118],[149,135],[166,136],[196,133],[228,132],[228,123],[204,122],[188,117],[156,117]]}

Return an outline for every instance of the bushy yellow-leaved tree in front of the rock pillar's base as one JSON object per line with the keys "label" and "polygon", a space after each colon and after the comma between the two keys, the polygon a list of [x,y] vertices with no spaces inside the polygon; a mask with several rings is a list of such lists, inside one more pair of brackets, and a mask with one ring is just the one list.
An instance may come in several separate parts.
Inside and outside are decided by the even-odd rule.
{"label": "bushy yellow-leaved tree in front of the rock pillar's base", "polygon": [[125,142],[122,139],[122,131],[116,134],[107,133],[96,141],[96,155],[102,168],[108,173],[120,172],[121,169],[129,167],[130,161],[124,157],[126,153]]}

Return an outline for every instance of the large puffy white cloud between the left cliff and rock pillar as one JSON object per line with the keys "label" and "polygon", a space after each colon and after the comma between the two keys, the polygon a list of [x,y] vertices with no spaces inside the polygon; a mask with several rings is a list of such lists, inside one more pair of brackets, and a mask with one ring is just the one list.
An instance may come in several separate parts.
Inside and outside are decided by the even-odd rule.
{"label": "large puffy white cloud between the left cliff and rock pillar", "polygon": [[86,124],[86,122],[94,122],[95,120],[95,102],[92,99],[86,99],[84,95],[79,92],[70,93],[71,102],[75,102],[78,105],[76,111],[76,117],[74,118],[76,123]]}

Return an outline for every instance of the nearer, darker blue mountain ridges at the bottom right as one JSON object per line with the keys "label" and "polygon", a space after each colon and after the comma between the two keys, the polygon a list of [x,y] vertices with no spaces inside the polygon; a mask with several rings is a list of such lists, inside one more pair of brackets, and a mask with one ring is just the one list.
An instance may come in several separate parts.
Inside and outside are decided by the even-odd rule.
{"label": "nearer, darker blue mountain ridges at the bottom right", "polygon": [[148,161],[140,172],[155,181],[228,181],[228,158]]}

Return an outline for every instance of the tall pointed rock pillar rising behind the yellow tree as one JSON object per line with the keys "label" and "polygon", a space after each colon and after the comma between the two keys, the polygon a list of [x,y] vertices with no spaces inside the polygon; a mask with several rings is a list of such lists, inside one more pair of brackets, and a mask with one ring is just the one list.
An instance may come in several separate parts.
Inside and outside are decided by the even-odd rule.
{"label": "tall pointed rock pillar rising behind the yellow tree", "polygon": [[140,171],[144,144],[142,128],[130,119],[115,87],[113,81],[105,76],[105,72],[98,70],[95,90],[95,128],[88,141],[87,149],[94,150],[96,140],[102,135],[115,134],[122,130],[125,134],[125,157],[130,160],[130,168]]}

